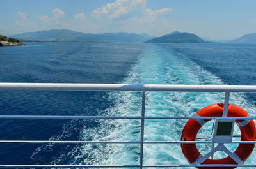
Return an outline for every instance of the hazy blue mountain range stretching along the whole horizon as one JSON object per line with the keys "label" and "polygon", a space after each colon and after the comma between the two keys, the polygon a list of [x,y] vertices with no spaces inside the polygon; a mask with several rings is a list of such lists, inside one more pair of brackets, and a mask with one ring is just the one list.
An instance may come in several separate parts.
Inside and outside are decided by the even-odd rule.
{"label": "hazy blue mountain range stretching along the whole horizon", "polygon": [[146,33],[82,33],[68,29],[51,29],[48,31],[27,32],[16,34],[12,38],[20,41],[79,41],[79,42],[146,42],[146,43],[255,43],[256,33],[246,34],[232,41],[213,41],[200,38],[192,33],[182,33],[179,31],[164,34],[161,37],[148,36]]}

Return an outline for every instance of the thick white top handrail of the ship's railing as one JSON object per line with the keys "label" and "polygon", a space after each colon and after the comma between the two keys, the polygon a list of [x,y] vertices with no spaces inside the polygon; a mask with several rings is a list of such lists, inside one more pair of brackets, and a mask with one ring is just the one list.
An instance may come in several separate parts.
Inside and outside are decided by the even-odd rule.
{"label": "thick white top handrail of the ship's railing", "polygon": [[255,85],[0,83],[1,91],[256,92]]}

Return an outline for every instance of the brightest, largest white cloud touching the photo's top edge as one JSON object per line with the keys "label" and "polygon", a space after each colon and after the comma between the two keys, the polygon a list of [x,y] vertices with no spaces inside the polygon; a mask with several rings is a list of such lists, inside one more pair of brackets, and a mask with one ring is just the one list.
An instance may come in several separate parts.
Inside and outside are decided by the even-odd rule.
{"label": "brightest, largest white cloud touching the photo's top edge", "polygon": [[137,6],[146,6],[147,0],[116,0],[115,3],[106,3],[102,7],[93,10],[97,17],[105,16],[112,20],[122,17],[133,11]]}

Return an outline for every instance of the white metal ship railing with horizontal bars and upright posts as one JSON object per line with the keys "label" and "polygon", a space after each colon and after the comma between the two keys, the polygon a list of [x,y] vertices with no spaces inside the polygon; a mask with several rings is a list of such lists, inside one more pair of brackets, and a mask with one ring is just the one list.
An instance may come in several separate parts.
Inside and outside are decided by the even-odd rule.
{"label": "white metal ship railing with horizontal bars and upright posts", "polygon": [[[143,168],[143,167],[256,167],[256,165],[202,165],[201,163],[188,165],[144,165],[144,144],[210,144],[210,141],[144,141],[145,119],[215,119],[236,120],[256,119],[256,117],[227,117],[230,92],[256,92],[253,85],[156,85],[156,84],[47,84],[47,83],[0,83],[0,91],[141,91],[141,116],[63,116],[63,115],[0,115],[0,119],[140,119],[140,141],[59,141],[59,140],[0,140],[0,143],[54,143],[54,144],[139,144],[140,163],[138,165],[0,165],[0,168]],[[147,117],[145,116],[145,92],[225,92],[223,117]],[[252,144],[255,141],[233,141],[230,143]],[[227,150],[228,151],[228,150]],[[209,155],[209,154],[208,154]],[[211,154],[210,154],[211,155]],[[203,157],[205,158],[205,157]]]}

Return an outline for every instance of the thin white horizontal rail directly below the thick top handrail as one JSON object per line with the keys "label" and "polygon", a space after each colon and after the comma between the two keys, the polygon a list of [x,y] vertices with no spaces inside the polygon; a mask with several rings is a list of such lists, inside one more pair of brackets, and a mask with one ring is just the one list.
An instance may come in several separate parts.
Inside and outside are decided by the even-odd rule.
{"label": "thin white horizontal rail directly below the thick top handrail", "polygon": [[[0,115],[0,119],[141,119],[141,116],[84,116],[84,115]],[[144,119],[203,119],[203,120],[246,120],[256,117],[175,117],[146,116]]]}

